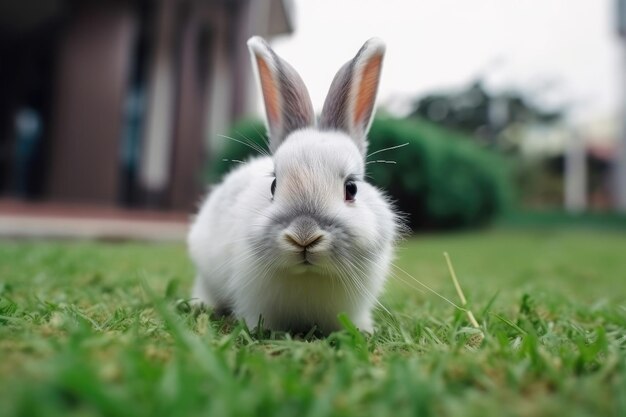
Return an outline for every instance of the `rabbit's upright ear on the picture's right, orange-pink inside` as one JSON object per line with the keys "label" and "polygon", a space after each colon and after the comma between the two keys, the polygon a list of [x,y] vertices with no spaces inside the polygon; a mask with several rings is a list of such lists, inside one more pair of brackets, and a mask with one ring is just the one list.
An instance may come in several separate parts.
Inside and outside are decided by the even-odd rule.
{"label": "rabbit's upright ear on the picture's right, orange-pink inside", "polygon": [[365,42],[354,59],[335,75],[320,116],[320,129],[346,132],[364,155],[384,55],[382,40]]}

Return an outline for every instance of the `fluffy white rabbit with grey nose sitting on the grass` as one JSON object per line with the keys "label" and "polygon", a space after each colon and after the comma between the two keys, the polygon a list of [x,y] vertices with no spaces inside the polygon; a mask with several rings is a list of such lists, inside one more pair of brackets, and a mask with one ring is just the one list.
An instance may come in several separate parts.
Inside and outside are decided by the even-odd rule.
{"label": "fluffy white rabbit with grey nose sitting on the grass", "polygon": [[370,39],[332,82],[316,126],[296,71],[260,37],[248,41],[272,156],[229,173],[188,237],[192,296],[250,328],[324,333],[345,313],[371,332],[399,220],[365,181],[366,134],[385,45]]}

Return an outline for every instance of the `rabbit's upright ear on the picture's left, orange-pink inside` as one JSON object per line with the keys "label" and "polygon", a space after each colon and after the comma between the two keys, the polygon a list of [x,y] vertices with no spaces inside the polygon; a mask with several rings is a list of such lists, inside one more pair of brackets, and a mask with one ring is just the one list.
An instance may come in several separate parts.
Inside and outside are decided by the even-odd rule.
{"label": "rabbit's upright ear on the picture's left, orange-pink inside", "polygon": [[248,48],[263,92],[270,150],[274,152],[291,132],[313,126],[315,113],[304,82],[291,65],[259,36],[248,40]]}

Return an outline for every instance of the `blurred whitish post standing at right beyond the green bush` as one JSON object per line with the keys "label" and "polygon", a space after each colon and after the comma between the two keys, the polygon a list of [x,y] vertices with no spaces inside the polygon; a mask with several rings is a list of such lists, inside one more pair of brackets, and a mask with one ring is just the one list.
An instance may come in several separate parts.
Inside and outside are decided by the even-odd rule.
{"label": "blurred whitish post standing at right beyond the green bush", "polygon": [[577,130],[565,150],[565,209],[570,213],[587,209],[587,150]]}

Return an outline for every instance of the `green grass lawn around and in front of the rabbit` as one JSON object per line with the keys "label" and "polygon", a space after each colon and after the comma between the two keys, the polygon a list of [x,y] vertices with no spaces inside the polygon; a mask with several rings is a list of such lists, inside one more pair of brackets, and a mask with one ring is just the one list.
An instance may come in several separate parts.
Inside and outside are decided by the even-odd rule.
{"label": "green grass lawn around and in front of the rabbit", "polygon": [[626,235],[419,236],[377,331],[256,334],[178,300],[176,245],[0,243],[0,415],[626,415]]}

